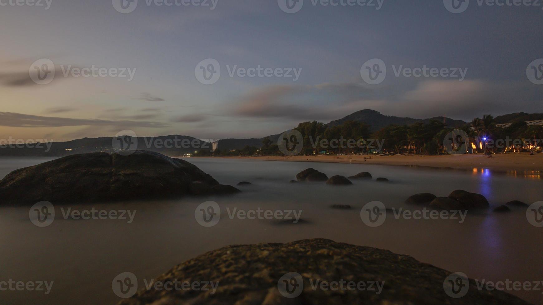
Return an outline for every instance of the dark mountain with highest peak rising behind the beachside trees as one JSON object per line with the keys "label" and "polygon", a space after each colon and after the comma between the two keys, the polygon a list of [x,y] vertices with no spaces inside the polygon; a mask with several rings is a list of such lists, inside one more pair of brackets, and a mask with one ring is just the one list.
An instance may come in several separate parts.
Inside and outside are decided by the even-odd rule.
{"label": "dark mountain with highest peak rising behind the beachside trees", "polygon": [[[443,116],[437,116],[435,118],[430,118],[430,119],[400,118],[399,116],[383,115],[380,112],[377,112],[375,110],[364,109],[361,111],[357,111],[355,113],[351,113],[348,116],[345,116],[345,118],[343,119],[331,121],[328,125],[331,125],[331,126],[342,125],[344,122],[349,121],[349,120],[363,122],[371,126],[370,128],[371,131],[378,131],[379,129],[383,127],[387,127],[388,125],[392,125],[392,124],[412,125],[417,122],[427,123],[427,122],[430,122],[431,120],[437,120],[437,121],[443,122]],[[448,127],[460,127],[467,123],[462,120],[453,120],[453,119],[445,118],[445,124]]]}

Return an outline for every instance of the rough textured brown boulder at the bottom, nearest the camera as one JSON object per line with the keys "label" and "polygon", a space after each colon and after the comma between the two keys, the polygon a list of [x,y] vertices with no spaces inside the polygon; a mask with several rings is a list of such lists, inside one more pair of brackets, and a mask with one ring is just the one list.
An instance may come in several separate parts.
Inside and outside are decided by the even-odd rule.
{"label": "rough textured brown boulder at the bottom, nearest the camera", "polygon": [[[286,287],[281,277],[287,272],[300,275],[299,282],[286,278],[287,283],[301,287],[298,297],[287,298],[279,291],[278,283]],[[153,287],[140,289],[119,304],[528,304],[503,291],[485,287],[479,291],[474,280],[469,280],[465,296],[451,298],[444,291],[451,273],[410,256],[329,239],[232,245],[190,259],[156,278],[161,288],[167,287],[165,282],[218,282],[214,294],[212,290]],[[379,282],[382,290],[376,294],[368,289],[333,291],[311,286],[315,281],[342,280]],[[294,293],[295,288],[289,287]]]}

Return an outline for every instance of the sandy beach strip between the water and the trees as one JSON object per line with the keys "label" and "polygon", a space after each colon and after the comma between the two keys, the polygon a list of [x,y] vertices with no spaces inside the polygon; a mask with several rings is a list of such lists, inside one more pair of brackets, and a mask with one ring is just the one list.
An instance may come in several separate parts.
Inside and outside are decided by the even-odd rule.
{"label": "sandy beach strip between the water and the trees", "polygon": [[[371,157],[371,158],[370,158]],[[214,158],[214,157],[212,157]],[[494,154],[491,158],[483,154],[464,155],[315,155],[293,157],[220,157],[233,159],[255,159],[269,161],[327,162],[353,164],[379,164],[396,166],[418,166],[457,168],[459,170],[488,169],[519,175],[543,172],[543,154],[529,153]]]}

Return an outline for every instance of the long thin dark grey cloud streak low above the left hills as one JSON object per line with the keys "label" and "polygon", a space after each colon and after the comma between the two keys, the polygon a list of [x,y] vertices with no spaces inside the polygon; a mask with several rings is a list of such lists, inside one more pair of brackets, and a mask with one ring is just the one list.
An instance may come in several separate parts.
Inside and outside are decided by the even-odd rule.
{"label": "long thin dark grey cloud streak low above the left hills", "polygon": [[0,112],[0,126],[8,127],[66,127],[66,126],[117,126],[117,127],[149,127],[161,128],[168,124],[150,121],[130,120],[98,120],[55,118],[53,116],[38,116],[13,112]]}

